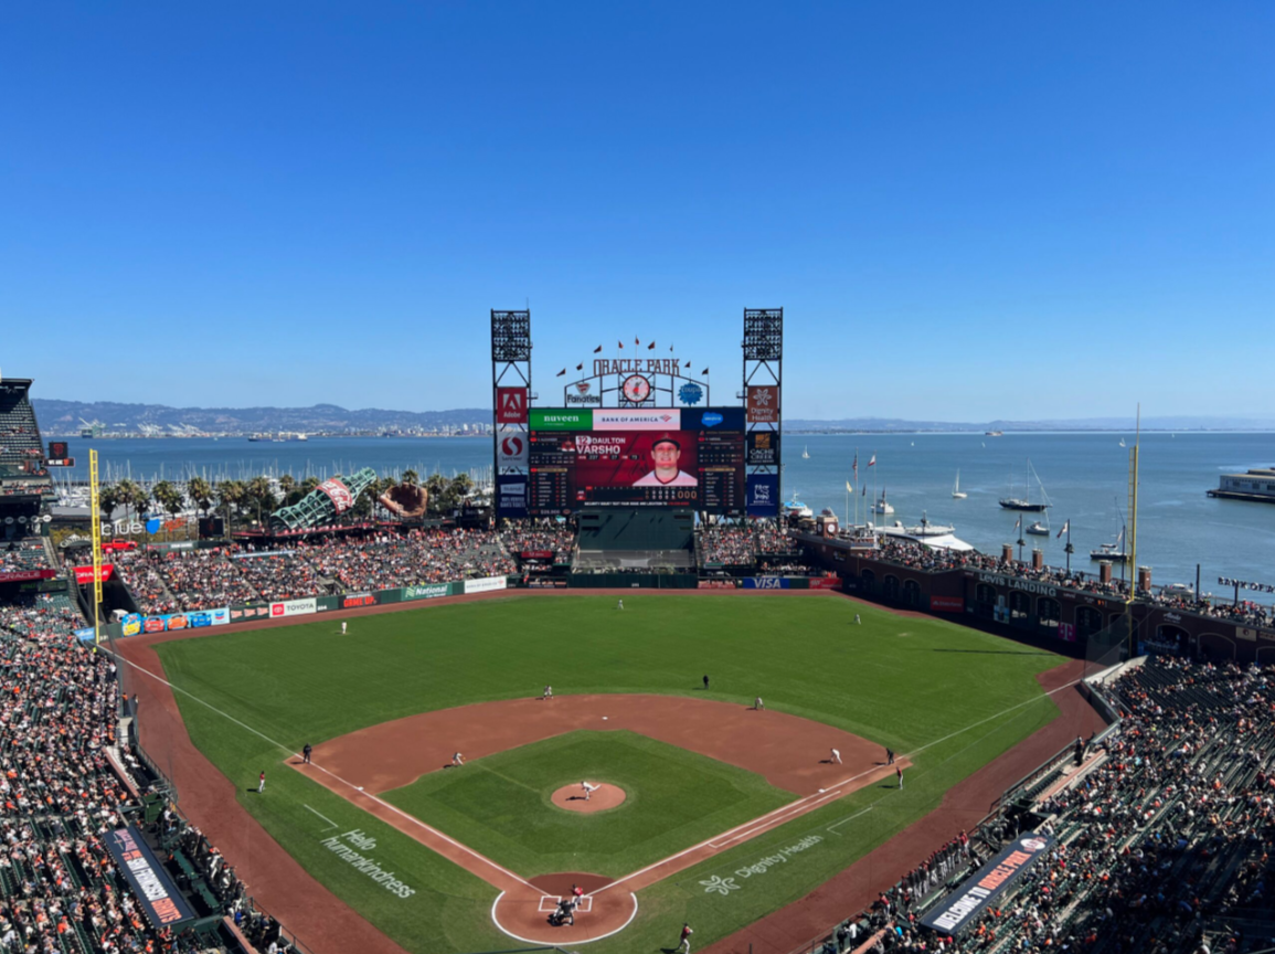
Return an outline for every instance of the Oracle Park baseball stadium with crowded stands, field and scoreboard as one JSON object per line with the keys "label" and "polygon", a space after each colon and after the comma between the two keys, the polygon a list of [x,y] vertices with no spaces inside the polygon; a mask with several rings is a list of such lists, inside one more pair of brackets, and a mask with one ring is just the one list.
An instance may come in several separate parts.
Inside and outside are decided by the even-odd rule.
{"label": "Oracle Park baseball stadium with crowded stands, field and scoreboard", "polygon": [[490,487],[193,480],[162,543],[96,463],[55,542],[0,384],[0,950],[1270,936],[1275,626],[784,504],[782,309],[729,400],[640,339],[541,400],[529,311],[491,342]]}

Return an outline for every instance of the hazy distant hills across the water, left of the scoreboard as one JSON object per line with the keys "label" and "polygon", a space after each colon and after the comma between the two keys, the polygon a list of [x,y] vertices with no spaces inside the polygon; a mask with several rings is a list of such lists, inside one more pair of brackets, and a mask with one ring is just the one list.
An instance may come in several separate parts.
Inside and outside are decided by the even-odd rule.
{"label": "hazy distant hills across the water, left of the scoreboard", "polygon": [[455,411],[348,411],[337,404],[314,407],[168,407],[167,404],[119,404],[110,400],[56,400],[33,398],[42,431],[74,434],[84,421],[101,421],[107,431],[140,432],[147,427],[191,426],[218,434],[258,431],[380,431],[444,430],[462,425],[491,423],[491,408]]}

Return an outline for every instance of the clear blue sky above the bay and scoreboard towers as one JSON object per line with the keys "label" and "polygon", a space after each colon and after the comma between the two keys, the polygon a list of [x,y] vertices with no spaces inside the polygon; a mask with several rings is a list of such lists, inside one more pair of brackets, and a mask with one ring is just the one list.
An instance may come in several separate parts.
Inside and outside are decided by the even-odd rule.
{"label": "clear blue sky above the bay and scoreboard towers", "polygon": [[[1275,412],[1275,6],[0,6],[0,371],[490,403],[676,343],[785,413]],[[696,367],[699,370],[699,367]]]}

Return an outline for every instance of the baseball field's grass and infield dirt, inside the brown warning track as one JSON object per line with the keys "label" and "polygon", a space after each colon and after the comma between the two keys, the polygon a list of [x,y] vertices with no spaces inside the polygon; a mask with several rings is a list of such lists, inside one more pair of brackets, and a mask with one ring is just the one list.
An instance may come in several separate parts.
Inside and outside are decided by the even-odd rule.
{"label": "baseball field's grass and infield dirt, inside the brown warning track", "polygon": [[[421,954],[544,931],[599,954],[652,951],[683,921],[703,950],[1049,723],[1058,709],[1037,676],[1063,662],[838,596],[636,592],[622,611],[615,597],[510,596],[360,616],[344,636],[316,619],[156,650],[191,741],[242,809]],[[300,764],[307,742],[312,765]],[[448,767],[454,751],[463,765]],[[556,804],[585,779],[623,801]],[[550,928],[539,895],[572,881],[592,907]]]}

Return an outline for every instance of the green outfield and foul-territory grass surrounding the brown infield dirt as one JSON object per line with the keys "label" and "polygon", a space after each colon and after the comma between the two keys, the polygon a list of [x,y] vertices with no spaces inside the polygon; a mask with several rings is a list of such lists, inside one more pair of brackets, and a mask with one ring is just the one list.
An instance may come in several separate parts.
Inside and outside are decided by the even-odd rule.
{"label": "green outfield and foul-territory grass surrounding the brown infield dirt", "polygon": [[[564,647],[570,652],[560,652]],[[1062,662],[977,630],[836,598],[641,593],[626,596],[622,616],[607,597],[510,597],[358,617],[344,638],[338,621],[320,617],[158,650],[178,689],[260,733],[178,693],[191,738],[236,782],[245,807],[320,881],[422,953],[507,946],[488,920],[495,892],[298,773],[272,770],[268,795],[249,796],[245,789],[261,768],[278,765],[286,751],[307,741],[418,712],[525,698],[546,684],[558,695],[694,693],[737,704],[761,695],[769,709],[899,752],[927,746],[914,756],[905,791],[861,789],[653,885],[640,895],[635,922],[590,951],[671,946],[669,925],[683,918],[703,945],[802,897],[1047,724],[1057,709],[1034,676]],[[704,673],[711,677],[709,693],[700,690]],[[393,867],[416,894],[391,897],[332,856],[320,846],[332,832],[321,830],[314,812],[338,830],[374,834],[379,863]],[[607,818],[621,812],[598,816]],[[821,840],[764,874],[738,874],[805,834]],[[727,880],[732,886],[724,892],[713,886]],[[303,925],[289,927],[305,940]]]}

